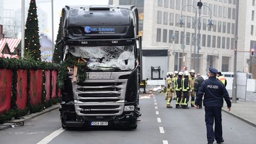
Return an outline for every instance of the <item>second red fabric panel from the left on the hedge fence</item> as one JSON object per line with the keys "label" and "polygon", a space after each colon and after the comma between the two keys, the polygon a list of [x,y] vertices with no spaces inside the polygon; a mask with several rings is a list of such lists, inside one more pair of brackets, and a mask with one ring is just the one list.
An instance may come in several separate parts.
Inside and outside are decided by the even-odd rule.
{"label": "second red fabric panel from the left on the hedge fence", "polygon": [[17,76],[17,101],[18,108],[24,110],[27,106],[27,70],[18,69]]}

